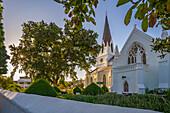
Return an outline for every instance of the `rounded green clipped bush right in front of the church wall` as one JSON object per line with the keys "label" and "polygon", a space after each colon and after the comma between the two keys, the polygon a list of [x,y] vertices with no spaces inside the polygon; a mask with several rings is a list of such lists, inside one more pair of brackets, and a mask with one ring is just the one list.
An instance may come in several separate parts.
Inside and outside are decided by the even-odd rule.
{"label": "rounded green clipped bush right in front of the church wall", "polygon": [[83,91],[84,95],[101,95],[104,94],[103,89],[101,89],[98,85],[96,85],[95,83],[91,83],[90,85],[88,85],[84,91]]}

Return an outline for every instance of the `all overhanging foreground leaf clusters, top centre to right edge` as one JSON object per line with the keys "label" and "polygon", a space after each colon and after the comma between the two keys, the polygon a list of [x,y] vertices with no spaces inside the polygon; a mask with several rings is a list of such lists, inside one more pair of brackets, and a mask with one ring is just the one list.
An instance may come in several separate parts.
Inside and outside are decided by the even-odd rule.
{"label": "all overhanging foreground leaf clusters, top centre to right edge", "polygon": [[[82,23],[92,22],[95,23],[95,11],[97,8],[98,0],[54,0],[64,5],[65,14],[71,18],[72,24],[82,27]],[[104,0],[105,1],[105,0]],[[132,7],[127,11],[124,19],[125,25],[128,25],[133,11],[136,11],[134,18],[142,21],[141,26],[144,32],[147,31],[148,27],[153,28],[155,25],[161,25],[163,30],[170,29],[170,0],[119,0],[117,7],[122,6],[126,3],[132,3]],[[157,38],[153,40],[152,49],[155,52],[161,52],[160,57],[166,55],[167,47],[170,48],[169,42],[170,37],[164,40]],[[163,42],[163,43],[162,43]],[[161,45],[164,45],[161,47]]]}

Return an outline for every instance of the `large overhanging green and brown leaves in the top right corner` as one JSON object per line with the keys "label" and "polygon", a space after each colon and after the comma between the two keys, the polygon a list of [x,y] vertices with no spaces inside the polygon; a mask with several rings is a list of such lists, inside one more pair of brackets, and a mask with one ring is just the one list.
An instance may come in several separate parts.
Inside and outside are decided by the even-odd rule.
{"label": "large overhanging green and brown leaves in the top right corner", "polygon": [[[119,0],[117,7],[128,2],[133,5],[129,10],[136,10],[135,19],[142,20],[142,30],[144,32],[147,31],[148,27],[153,28],[156,23],[156,27],[161,25],[165,30],[170,29],[170,0],[137,0],[135,2],[133,0]],[[128,13],[129,11],[126,15]],[[130,18],[131,15],[128,19]],[[129,23],[125,21],[125,24],[128,25]]]}

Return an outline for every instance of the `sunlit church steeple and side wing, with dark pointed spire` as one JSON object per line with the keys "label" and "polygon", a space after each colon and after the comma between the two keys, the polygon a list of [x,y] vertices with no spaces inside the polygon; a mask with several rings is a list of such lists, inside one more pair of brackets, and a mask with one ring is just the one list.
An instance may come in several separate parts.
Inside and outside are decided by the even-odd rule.
{"label": "sunlit church steeple and side wing, with dark pointed spire", "polygon": [[99,86],[106,85],[107,88],[111,88],[112,86],[112,67],[113,67],[113,59],[115,55],[113,40],[110,33],[109,23],[106,16],[104,33],[102,39],[102,48],[98,57],[96,58],[95,69],[90,73],[90,75],[85,75],[84,85],[87,87],[92,82],[98,84]]}

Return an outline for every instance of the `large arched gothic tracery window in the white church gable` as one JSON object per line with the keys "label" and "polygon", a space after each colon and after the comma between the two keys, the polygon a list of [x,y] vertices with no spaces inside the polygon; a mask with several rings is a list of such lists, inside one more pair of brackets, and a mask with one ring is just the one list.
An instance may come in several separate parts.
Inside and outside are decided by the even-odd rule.
{"label": "large arched gothic tracery window in the white church gable", "polygon": [[136,63],[136,53],[139,50],[143,64],[146,64],[146,54],[144,48],[139,43],[134,43],[129,51],[128,64]]}

